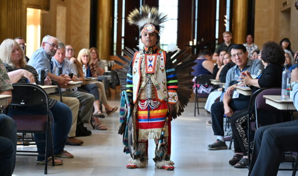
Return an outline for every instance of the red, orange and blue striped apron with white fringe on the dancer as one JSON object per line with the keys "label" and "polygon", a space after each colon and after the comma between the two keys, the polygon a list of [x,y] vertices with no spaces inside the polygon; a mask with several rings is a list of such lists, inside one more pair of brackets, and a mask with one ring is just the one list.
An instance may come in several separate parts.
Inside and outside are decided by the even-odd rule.
{"label": "red, orange and blue striped apron with white fringe on the dancer", "polygon": [[[139,100],[141,103],[145,100]],[[165,125],[167,115],[167,103],[162,102],[157,108],[154,109],[141,109],[137,108],[137,128],[138,140],[159,139]],[[168,132],[165,132],[165,137]]]}

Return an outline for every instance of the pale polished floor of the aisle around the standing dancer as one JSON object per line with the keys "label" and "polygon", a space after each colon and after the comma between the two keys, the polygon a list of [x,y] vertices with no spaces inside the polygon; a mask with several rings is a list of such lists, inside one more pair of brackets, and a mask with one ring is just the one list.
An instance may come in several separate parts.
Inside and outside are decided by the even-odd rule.
{"label": "pale polished floor of the aisle around the standing dancer", "polygon": [[[111,105],[119,106],[118,96],[110,98]],[[232,150],[211,151],[207,144],[215,141],[212,127],[205,122],[211,119],[200,109],[194,117],[193,101],[185,109],[182,117],[172,121],[172,153],[174,171],[154,168],[153,141],[149,141],[149,165],[145,169],[126,169],[130,155],[123,153],[122,136],[118,135],[119,117],[114,113],[102,119],[107,131],[92,130],[92,136],[81,137],[82,146],[66,145],[66,150],[75,157],[63,159],[62,166],[49,166],[48,174],[55,176],[246,176],[247,169],[235,169],[229,165]],[[91,129],[91,126],[88,125]],[[229,142],[227,143],[229,144]],[[42,176],[42,165],[34,163],[35,157],[17,156],[13,176]],[[283,164],[285,166],[285,164]],[[290,165],[287,164],[286,167]],[[278,176],[290,176],[291,171],[280,171]]]}

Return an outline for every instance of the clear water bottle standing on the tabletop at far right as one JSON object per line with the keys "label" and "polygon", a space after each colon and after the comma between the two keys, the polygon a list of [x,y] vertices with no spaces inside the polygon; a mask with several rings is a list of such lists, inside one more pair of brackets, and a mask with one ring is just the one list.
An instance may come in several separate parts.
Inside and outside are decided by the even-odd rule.
{"label": "clear water bottle standing on the tabletop at far right", "polygon": [[285,65],[285,70],[282,72],[282,82],[281,82],[281,100],[290,99],[291,90],[291,71],[288,70],[288,65]]}

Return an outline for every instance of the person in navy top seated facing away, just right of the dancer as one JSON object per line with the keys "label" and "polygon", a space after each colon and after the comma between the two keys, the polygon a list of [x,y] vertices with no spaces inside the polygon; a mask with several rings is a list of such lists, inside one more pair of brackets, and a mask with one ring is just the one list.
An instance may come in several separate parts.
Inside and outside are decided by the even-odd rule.
{"label": "person in navy top seated facing away, just right of the dancer", "polygon": [[[194,66],[192,69],[195,70],[192,72],[192,75],[194,75],[193,82],[195,82],[197,76],[200,74],[212,74],[214,69],[214,64],[212,63],[212,53],[208,50],[201,50],[199,52],[198,58],[195,61],[197,63],[196,66]],[[206,93],[209,94],[213,90],[213,86],[211,85],[200,85],[200,84],[194,84],[193,89],[195,92],[195,88],[197,86],[198,93]],[[201,86],[203,86],[201,88]]]}

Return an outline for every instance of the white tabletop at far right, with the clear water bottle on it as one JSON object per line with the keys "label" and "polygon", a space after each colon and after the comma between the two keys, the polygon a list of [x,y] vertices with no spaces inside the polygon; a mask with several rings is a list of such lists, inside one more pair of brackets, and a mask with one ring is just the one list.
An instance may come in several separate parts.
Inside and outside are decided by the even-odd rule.
{"label": "white tabletop at far right, with the clear water bottle on it", "polygon": [[265,98],[266,104],[276,107],[277,109],[296,110],[293,99],[281,100],[280,95],[264,95],[263,98]]}

